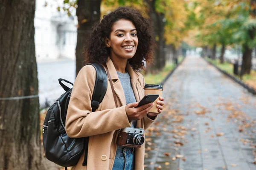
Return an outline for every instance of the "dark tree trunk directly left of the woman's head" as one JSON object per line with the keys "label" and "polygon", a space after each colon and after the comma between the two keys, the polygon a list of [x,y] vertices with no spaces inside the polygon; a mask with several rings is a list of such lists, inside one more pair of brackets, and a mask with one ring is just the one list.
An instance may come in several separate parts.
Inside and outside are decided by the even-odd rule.
{"label": "dark tree trunk directly left of the woman's head", "polygon": [[76,75],[84,66],[84,45],[89,38],[93,24],[100,19],[101,0],[77,0],[76,15],[79,27],[77,28],[76,43]]}

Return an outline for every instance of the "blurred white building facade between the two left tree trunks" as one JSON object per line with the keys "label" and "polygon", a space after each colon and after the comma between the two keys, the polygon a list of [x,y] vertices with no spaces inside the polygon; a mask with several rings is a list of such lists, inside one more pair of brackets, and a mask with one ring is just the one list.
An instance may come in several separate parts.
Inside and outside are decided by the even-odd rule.
{"label": "blurred white building facade between the two left tree trunks", "polygon": [[76,58],[75,11],[69,17],[66,12],[58,11],[58,6],[63,6],[63,0],[36,0],[34,25],[37,62]]}

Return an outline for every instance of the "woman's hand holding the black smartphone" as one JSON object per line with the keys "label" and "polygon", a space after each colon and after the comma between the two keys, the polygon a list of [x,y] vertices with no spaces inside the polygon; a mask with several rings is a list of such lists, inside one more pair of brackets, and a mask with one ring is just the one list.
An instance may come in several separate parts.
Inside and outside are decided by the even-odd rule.
{"label": "woman's hand holding the black smartphone", "polygon": [[142,105],[138,108],[134,108],[138,105],[138,102],[131,103],[125,106],[125,111],[127,114],[127,117],[129,119],[129,122],[132,120],[140,120],[144,116],[146,116],[149,112],[149,110],[153,107],[154,103],[148,103],[146,105]]}

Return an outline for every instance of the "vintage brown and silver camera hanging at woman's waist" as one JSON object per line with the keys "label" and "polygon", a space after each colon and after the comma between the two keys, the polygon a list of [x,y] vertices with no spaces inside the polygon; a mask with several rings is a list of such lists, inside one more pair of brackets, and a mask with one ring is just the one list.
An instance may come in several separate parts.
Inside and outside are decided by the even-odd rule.
{"label": "vintage brown and silver camera hanging at woman's waist", "polygon": [[119,130],[116,144],[126,147],[141,147],[145,138],[143,128],[126,127]]}

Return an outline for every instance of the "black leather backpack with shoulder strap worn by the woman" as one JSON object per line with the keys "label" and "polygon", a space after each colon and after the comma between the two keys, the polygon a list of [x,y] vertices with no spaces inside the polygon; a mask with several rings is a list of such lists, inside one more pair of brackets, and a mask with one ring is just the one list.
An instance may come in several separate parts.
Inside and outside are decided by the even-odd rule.
{"label": "black leather backpack with shoulder strap worn by the woman", "polygon": [[[91,107],[93,112],[99,107],[107,91],[107,74],[99,63],[90,63],[96,69],[96,80],[93,90]],[[71,82],[65,79],[58,79],[60,85],[66,91],[48,109],[43,125],[43,144],[47,159],[60,166],[71,167],[78,163],[85,151],[83,166],[87,165],[87,151],[89,137],[70,138],[65,130],[67,107],[70,100],[72,88],[62,83]]]}

